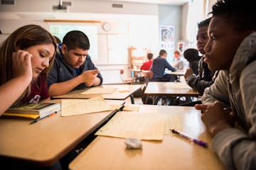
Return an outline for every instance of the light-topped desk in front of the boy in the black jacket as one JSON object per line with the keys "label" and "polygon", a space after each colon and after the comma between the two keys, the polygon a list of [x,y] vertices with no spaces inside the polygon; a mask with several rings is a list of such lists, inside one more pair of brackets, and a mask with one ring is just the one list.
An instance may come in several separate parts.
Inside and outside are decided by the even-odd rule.
{"label": "light-topped desk in front of the boy in the black jacket", "polygon": [[[180,88],[178,87],[180,86]],[[153,97],[153,104],[157,104],[161,96],[185,96],[198,97],[200,94],[188,86],[185,82],[149,82],[146,86],[144,94]]]}

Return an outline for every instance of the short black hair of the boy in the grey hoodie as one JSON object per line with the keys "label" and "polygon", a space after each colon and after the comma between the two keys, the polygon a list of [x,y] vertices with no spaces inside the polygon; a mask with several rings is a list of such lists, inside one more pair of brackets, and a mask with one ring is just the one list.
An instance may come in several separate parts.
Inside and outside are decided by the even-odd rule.
{"label": "short black hair of the boy in the grey hoodie", "polygon": [[223,16],[238,32],[256,30],[255,0],[218,0],[212,10],[213,16]]}

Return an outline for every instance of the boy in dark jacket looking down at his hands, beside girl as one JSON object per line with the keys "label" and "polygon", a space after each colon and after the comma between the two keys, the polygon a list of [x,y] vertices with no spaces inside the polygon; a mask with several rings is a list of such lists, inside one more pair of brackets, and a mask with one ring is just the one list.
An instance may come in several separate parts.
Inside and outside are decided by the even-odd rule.
{"label": "boy in dark jacket looking down at his hands, beside girl", "polygon": [[102,75],[88,55],[89,49],[89,39],[82,31],[73,30],[64,36],[60,55],[56,55],[47,79],[50,96],[102,84]]}

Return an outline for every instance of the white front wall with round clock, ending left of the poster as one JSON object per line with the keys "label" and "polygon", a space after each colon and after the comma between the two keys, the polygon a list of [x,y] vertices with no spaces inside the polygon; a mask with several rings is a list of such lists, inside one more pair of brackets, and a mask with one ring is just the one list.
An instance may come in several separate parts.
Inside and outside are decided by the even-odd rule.
{"label": "white front wall with round clock, ending left of the poster", "polygon": [[[159,31],[158,31],[158,5],[157,4],[139,4],[122,2],[124,8],[112,8],[112,3],[108,1],[72,1],[72,6],[68,6],[68,13],[53,12],[52,6],[57,5],[58,1],[33,1],[18,0],[14,6],[0,5],[0,30],[4,34],[10,34],[16,28],[26,24],[38,24],[49,30],[49,24],[44,19],[65,19],[65,20],[89,20],[101,21],[96,24],[98,28],[99,54],[102,56],[111,55],[117,50],[113,50],[110,45],[110,39],[124,37],[127,47],[142,46],[153,52],[158,51]],[[118,3],[120,4],[120,3]],[[138,10],[139,9],[139,10]],[[106,32],[102,30],[103,23],[110,23],[111,30]],[[64,23],[65,24],[65,23]],[[78,23],[71,23],[78,24]],[[83,23],[79,23],[83,24]],[[150,36],[149,36],[150,35]],[[109,44],[107,44],[109,42]],[[116,48],[120,43],[116,43]],[[113,53],[114,54],[114,53]],[[122,57],[122,56],[120,56]],[[128,54],[125,58],[102,59],[95,61],[96,64],[129,64]]]}

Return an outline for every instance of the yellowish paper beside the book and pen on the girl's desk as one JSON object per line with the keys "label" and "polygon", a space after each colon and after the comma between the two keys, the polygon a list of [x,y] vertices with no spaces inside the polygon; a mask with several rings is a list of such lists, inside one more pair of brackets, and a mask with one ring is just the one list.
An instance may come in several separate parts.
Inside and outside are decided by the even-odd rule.
{"label": "yellowish paper beside the book and pen on the girl's desk", "polygon": [[61,101],[62,116],[111,111],[113,109],[102,96],[90,99],[65,99]]}

